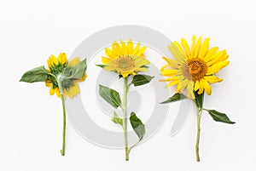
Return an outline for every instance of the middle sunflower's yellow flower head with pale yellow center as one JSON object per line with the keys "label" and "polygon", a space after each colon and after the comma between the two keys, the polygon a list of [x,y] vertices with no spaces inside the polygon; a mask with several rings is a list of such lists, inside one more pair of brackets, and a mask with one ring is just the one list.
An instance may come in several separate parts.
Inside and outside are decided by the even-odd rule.
{"label": "middle sunflower's yellow flower head with pale yellow center", "polygon": [[133,48],[131,40],[127,44],[123,41],[113,42],[111,49],[105,48],[108,57],[102,56],[103,68],[107,71],[115,71],[122,77],[136,75],[138,71],[147,71],[146,65],[149,61],[143,54],[146,48],[140,48],[140,43]]}

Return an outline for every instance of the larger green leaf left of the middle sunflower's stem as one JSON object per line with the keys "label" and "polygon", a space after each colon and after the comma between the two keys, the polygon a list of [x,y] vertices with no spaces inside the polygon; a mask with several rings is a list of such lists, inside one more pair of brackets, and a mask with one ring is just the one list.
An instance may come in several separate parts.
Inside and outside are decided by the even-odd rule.
{"label": "larger green leaf left of the middle sunflower's stem", "polygon": [[119,92],[115,91],[114,89],[100,85],[100,95],[114,108],[121,106]]}

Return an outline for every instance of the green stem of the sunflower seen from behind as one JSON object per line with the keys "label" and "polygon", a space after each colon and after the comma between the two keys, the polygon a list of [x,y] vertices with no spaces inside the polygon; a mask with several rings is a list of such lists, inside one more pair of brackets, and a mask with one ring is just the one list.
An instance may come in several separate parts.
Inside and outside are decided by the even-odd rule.
{"label": "green stem of the sunflower seen from behind", "polygon": [[58,80],[58,86],[59,86],[59,89],[60,89],[61,102],[62,102],[62,111],[63,111],[63,130],[62,130],[62,149],[61,149],[61,155],[65,156],[65,145],[66,145],[66,107],[65,107],[65,99],[64,99],[61,79]]}

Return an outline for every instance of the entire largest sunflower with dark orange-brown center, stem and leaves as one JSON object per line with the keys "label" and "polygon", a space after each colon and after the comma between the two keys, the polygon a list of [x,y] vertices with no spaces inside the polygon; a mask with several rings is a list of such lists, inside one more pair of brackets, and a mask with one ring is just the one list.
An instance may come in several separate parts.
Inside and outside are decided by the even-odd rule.
{"label": "entire largest sunflower with dark orange-brown center, stem and leaves", "polygon": [[[230,121],[224,113],[209,110],[203,107],[204,93],[212,94],[212,83],[222,82],[223,79],[217,76],[225,66],[230,64],[229,55],[226,50],[219,50],[218,47],[210,48],[210,38],[196,39],[192,37],[189,43],[182,38],[181,43],[176,41],[168,46],[174,59],[163,57],[166,65],[160,69],[160,74],[166,79],[160,82],[166,82],[166,87],[177,85],[177,92],[162,104],[183,100],[188,98],[195,102],[197,118],[197,136],[196,136],[196,160],[200,161],[199,142],[201,133],[201,113],[207,111],[213,120],[222,123],[234,123]],[[183,92],[186,92],[183,94]]]}

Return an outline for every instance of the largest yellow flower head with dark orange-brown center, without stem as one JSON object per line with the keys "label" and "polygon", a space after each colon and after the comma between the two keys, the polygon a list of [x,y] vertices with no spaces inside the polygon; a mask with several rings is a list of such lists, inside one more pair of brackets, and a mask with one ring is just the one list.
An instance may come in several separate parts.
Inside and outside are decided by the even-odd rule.
{"label": "largest yellow flower head with dark orange-brown center, without stem", "polygon": [[218,51],[218,47],[209,48],[210,38],[206,38],[202,42],[202,37],[196,40],[192,37],[192,44],[189,48],[187,41],[182,38],[181,44],[171,43],[168,48],[172,52],[175,60],[163,57],[167,65],[160,70],[161,75],[168,77],[169,82],[167,87],[177,84],[177,93],[181,93],[184,88],[187,88],[188,97],[195,99],[195,92],[202,94],[204,91],[212,94],[210,83],[218,83],[223,79],[215,74],[219,70],[228,66],[229,55],[226,50]]}

